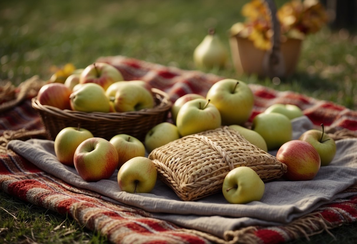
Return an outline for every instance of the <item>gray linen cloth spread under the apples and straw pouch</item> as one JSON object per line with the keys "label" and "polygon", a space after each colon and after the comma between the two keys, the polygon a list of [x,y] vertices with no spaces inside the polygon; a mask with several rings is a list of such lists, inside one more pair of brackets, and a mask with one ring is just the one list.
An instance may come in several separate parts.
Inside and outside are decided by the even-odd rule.
{"label": "gray linen cloth spread under the apples and straw pouch", "polygon": [[[313,128],[313,124],[306,116],[292,120],[292,124],[293,139]],[[355,192],[343,191],[357,184],[357,139],[338,140],[336,145],[337,153],[334,160],[330,165],[321,167],[313,180],[277,179],[267,182],[261,201],[245,205],[229,204],[222,193],[185,202],[160,180],[157,180],[151,193],[123,192],[117,184],[117,171],[108,180],[86,182],[77,174],[74,167],[65,166],[56,159],[54,142],[50,140],[12,140],[8,148],[40,169],[74,186],[101,193],[106,196],[104,199],[107,201],[140,207],[151,212],[154,218],[223,238],[226,230],[251,225],[276,226],[289,223],[323,204],[356,195]],[[269,153],[276,155],[276,151]]]}

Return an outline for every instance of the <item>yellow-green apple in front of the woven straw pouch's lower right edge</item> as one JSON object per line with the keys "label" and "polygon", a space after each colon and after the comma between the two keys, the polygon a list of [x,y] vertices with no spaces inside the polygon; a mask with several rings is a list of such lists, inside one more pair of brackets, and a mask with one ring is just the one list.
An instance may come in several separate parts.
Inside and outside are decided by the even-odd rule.
{"label": "yellow-green apple in front of the woven straw pouch's lower right edge", "polygon": [[260,201],[264,191],[265,184],[262,179],[253,169],[246,166],[229,171],[223,180],[222,193],[229,203]]}

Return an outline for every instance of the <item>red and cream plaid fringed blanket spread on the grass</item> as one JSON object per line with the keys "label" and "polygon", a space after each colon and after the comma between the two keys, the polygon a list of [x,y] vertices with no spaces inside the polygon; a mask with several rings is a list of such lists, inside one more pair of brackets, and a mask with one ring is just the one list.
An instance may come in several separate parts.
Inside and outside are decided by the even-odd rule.
{"label": "red and cream plaid fringed blanket spread on the grass", "polygon": [[[126,80],[144,80],[166,91],[172,101],[187,93],[205,95],[213,83],[222,79],[199,71],[180,70],[122,56],[98,60],[117,67]],[[271,104],[290,103],[301,107],[317,126],[323,122],[336,140],[357,137],[356,111],[292,91],[281,92],[257,84],[249,85],[255,95],[251,120]],[[20,91],[17,89],[14,92],[18,94]],[[20,136],[23,136],[22,139],[43,136],[40,119],[31,107],[30,98],[34,94],[10,109],[0,109],[1,145]],[[32,204],[69,213],[90,230],[107,235],[112,243],[283,243],[357,221],[357,186],[354,186],[345,191],[356,192],[355,196],[323,205],[291,223],[243,227],[227,231],[220,238],[153,218],[151,213],[140,208],[115,205],[96,192],[74,187],[40,170],[11,150],[0,151],[0,187],[2,191]]]}

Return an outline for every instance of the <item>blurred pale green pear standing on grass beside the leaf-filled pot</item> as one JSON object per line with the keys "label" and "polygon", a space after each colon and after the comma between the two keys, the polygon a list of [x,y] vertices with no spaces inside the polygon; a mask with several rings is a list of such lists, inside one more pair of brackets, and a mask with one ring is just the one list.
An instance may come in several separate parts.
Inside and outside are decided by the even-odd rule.
{"label": "blurred pale green pear standing on grass beside the leaf-filled pot", "polygon": [[193,52],[193,62],[199,69],[212,69],[225,67],[228,60],[228,52],[215,30],[210,28],[208,35],[196,47]]}

